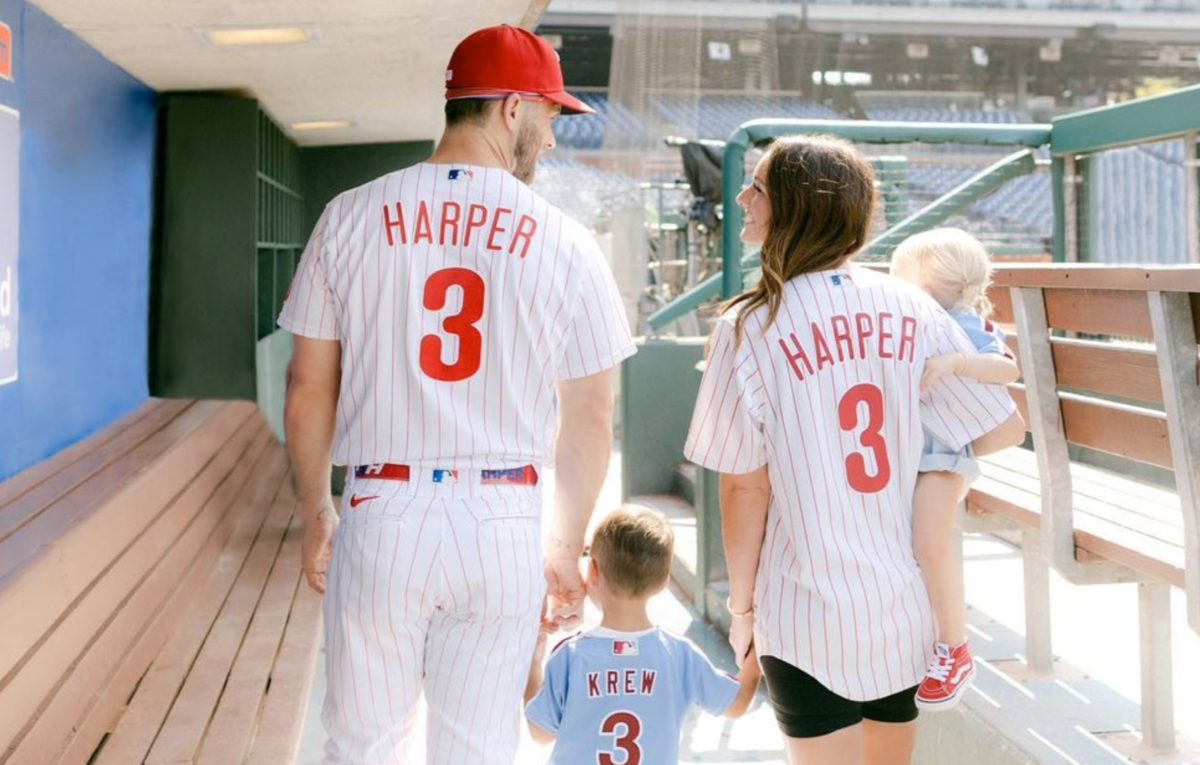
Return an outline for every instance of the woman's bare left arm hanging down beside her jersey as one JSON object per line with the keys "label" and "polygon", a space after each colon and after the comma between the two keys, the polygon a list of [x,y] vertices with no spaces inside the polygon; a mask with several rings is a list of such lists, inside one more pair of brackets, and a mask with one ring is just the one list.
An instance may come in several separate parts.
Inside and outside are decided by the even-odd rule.
{"label": "woman's bare left arm hanging down beside her jersey", "polygon": [[730,570],[730,612],[738,667],[750,652],[754,626],[754,583],[758,574],[762,540],[767,534],[767,505],[770,480],[767,468],[751,472],[721,474],[721,531],[725,535],[725,561]]}

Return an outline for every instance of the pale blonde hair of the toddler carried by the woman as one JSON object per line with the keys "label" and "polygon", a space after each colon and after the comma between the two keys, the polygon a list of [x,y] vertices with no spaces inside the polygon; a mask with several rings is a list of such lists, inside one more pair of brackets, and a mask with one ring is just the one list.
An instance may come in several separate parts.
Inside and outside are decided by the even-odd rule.
{"label": "pale blonde hair of the toddler carried by the woman", "polygon": [[900,242],[892,254],[892,275],[905,271],[953,301],[953,308],[970,308],[985,319],[991,313],[991,257],[962,229],[932,229]]}

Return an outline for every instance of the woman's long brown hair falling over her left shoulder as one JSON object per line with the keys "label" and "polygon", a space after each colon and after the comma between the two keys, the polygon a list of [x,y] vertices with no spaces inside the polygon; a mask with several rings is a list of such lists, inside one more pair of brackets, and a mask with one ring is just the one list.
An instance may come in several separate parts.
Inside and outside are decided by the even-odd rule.
{"label": "woman's long brown hair falling over her left shoulder", "polygon": [[803,273],[839,265],[866,243],[875,216],[875,170],[853,144],[833,135],[779,138],[767,150],[770,222],[762,243],[762,279],[726,301],[742,306],[734,337],[746,318],[767,306],[775,321],[784,284]]}

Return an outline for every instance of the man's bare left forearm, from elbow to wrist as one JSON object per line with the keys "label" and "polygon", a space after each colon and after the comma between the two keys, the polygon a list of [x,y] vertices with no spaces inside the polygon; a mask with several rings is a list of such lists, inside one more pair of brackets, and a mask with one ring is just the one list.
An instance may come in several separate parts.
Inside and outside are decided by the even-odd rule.
{"label": "man's bare left forearm, from elbow to wrist", "polygon": [[288,388],[283,429],[305,513],[329,506],[337,397],[304,386]]}

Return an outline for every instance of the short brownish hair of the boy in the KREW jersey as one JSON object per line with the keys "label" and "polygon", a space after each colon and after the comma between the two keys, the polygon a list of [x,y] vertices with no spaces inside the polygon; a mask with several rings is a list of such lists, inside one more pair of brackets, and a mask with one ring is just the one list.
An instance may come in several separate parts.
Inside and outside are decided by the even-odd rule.
{"label": "short brownish hair of the boy in the KREW jersey", "polygon": [[589,555],[610,588],[640,597],[666,583],[673,549],[674,530],[666,516],[642,505],[623,505],[596,526]]}

